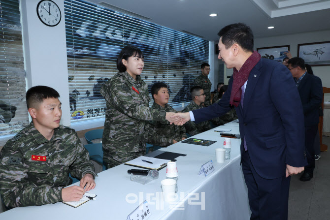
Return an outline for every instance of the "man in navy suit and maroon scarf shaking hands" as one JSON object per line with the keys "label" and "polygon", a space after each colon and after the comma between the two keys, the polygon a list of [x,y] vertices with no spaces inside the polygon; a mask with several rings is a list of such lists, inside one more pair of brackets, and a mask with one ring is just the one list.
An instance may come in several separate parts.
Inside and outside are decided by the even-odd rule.
{"label": "man in navy suit and maroon scarf shaking hands", "polygon": [[227,68],[234,68],[227,91],[218,103],[175,116],[199,123],[235,106],[250,219],[285,220],[290,176],[302,172],[307,164],[295,81],[286,66],[261,59],[253,51],[253,33],[245,24],[229,25],[218,35],[218,58]]}

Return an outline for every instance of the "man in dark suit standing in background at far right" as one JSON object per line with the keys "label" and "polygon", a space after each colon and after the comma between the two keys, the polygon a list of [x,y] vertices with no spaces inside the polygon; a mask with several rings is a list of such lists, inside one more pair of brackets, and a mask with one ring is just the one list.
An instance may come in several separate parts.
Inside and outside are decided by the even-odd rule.
{"label": "man in dark suit standing in background at far right", "polygon": [[288,68],[296,81],[305,118],[305,146],[308,165],[300,177],[301,181],[313,178],[315,167],[314,141],[319,124],[319,107],[322,102],[323,88],[321,79],[308,74],[305,61],[294,57],[288,61]]}

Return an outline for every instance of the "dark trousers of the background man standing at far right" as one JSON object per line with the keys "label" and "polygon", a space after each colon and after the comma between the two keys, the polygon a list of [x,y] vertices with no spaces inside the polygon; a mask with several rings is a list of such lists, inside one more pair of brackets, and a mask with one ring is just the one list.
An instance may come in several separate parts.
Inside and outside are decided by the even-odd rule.
{"label": "dark trousers of the background man standing at far right", "polygon": [[313,173],[315,168],[315,150],[314,141],[317,133],[318,125],[305,126],[305,146],[306,146],[306,157],[308,165],[305,166],[305,172]]}

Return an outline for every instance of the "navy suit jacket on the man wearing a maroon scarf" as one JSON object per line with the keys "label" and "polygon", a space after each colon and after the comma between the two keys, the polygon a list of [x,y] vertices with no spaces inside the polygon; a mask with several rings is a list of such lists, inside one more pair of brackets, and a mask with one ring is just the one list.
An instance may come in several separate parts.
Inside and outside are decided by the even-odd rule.
{"label": "navy suit jacket on the man wearing a maroon scarf", "polygon": [[[207,108],[194,110],[195,122],[219,117],[230,108],[233,78],[222,99]],[[251,70],[243,108],[235,107],[242,138],[246,140],[251,162],[265,179],[285,175],[286,164],[307,165],[304,154],[304,121],[295,81],[288,68],[262,58]]]}

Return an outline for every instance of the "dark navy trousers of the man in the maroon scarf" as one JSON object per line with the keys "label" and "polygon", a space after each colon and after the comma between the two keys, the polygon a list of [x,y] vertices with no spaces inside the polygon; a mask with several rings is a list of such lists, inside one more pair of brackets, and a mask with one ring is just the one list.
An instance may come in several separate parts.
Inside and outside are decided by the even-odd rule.
{"label": "dark navy trousers of the man in the maroon scarf", "polygon": [[271,180],[260,177],[248,151],[242,153],[242,170],[252,211],[250,220],[287,220],[291,178],[286,178],[285,173]]}

